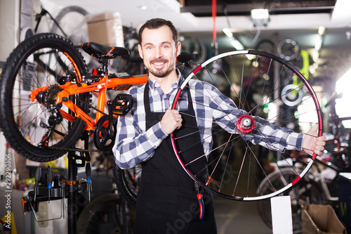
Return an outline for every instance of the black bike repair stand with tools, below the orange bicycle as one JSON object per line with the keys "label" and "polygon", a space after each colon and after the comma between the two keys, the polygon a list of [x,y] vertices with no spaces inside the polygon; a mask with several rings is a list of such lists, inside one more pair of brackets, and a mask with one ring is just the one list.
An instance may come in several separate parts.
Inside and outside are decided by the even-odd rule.
{"label": "black bike repair stand with tools, below the orange bicycle", "polygon": [[[84,139],[86,148],[88,141]],[[76,155],[79,152],[80,155]],[[78,193],[88,192],[88,199],[90,202],[91,193],[91,164],[90,155],[88,151],[77,151],[68,152],[68,178],[60,174],[53,174],[53,170],[48,167],[45,176],[45,185],[39,186],[41,178],[41,167],[38,167],[35,174],[35,185],[34,190],[29,191],[27,197],[22,197],[22,211],[31,212],[33,211],[34,219],[37,222],[50,221],[55,219],[61,219],[62,216],[65,218],[65,211],[67,209],[67,228],[68,234],[77,233],[77,197]],[[77,179],[78,167],[86,167],[86,180]],[[65,198],[67,197],[67,203]],[[36,215],[39,212],[39,202],[49,202],[51,200],[61,200],[61,216],[53,219],[39,220]],[[65,207],[64,207],[65,204]]]}

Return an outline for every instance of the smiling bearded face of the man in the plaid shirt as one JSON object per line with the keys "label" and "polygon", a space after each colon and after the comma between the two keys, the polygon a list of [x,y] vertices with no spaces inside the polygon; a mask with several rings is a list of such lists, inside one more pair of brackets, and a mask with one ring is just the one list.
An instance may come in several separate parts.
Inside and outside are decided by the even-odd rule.
{"label": "smiling bearded face of the man in the plaid shirt", "polygon": [[145,28],[142,44],[138,48],[145,67],[155,77],[166,77],[175,70],[176,58],[180,53],[180,42],[173,41],[173,35],[168,26],[154,30]]}

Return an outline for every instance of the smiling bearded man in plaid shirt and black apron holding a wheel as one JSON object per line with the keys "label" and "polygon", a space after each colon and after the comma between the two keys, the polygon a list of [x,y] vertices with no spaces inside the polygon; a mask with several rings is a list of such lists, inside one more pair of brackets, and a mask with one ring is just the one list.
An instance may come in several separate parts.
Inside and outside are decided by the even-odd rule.
{"label": "smiling bearded man in plaid shirt and black apron holding a wheel", "polygon": [[[115,161],[123,169],[143,165],[135,218],[136,233],[216,233],[213,212],[213,198],[204,193],[205,215],[199,219],[199,204],[194,181],[187,176],[174,155],[169,134],[182,131],[182,123],[192,126],[198,132],[197,121],[193,117],[194,106],[171,110],[178,87],[183,77],[176,70],[176,57],[180,53],[178,32],[172,22],[155,18],[148,20],[139,31],[139,53],[150,72],[147,84],[135,86],[129,93],[134,104],[131,112],[119,118],[116,143],[113,148]],[[196,93],[187,89],[188,99]],[[195,107],[200,108],[200,107]],[[202,106],[202,108],[204,108]],[[184,115],[185,114],[185,115]],[[316,131],[315,129],[313,131]],[[316,131],[317,133],[317,131]],[[314,133],[312,136],[315,136]],[[194,140],[185,142],[196,145]],[[309,153],[322,154],[325,138],[315,138],[307,134],[296,134],[291,141],[303,142],[297,148],[311,149]],[[298,138],[298,140],[296,139]],[[303,139],[303,140],[302,140]],[[204,154],[208,145],[193,147],[192,152]],[[187,155],[183,155],[187,157]],[[197,207],[196,207],[197,206]]]}

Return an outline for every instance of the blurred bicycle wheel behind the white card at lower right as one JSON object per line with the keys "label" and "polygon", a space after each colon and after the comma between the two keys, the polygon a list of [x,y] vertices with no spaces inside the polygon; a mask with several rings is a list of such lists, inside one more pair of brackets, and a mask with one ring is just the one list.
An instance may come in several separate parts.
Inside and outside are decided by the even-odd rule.
{"label": "blurred bicycle wheel behind the white card at lower right", "polygon": [[[274,171],[260,183],[260,189],[258,193],[269,194],[272,193],[269,190],[272,189],[270,183],[274,185],[284,184],[286,181],[291,181],[296,176],[296,172],[291,168],[283,168],[280,171]],[[312,176],[312,174],[308,174]],[[307,204],[325,204],[324,194],[319,189],[317,183],[314,182],[313,177],[307,178],[307,176],[301,179],[301,181],[293,188],[286,190],[282,195],[289,195],[291,197],[291,213],[293,220],[293,233],[302,232],[302,220],[301,220],[301,207],[298,204],[298,200],[302,199]],[[257,202],[258,213],[260,214],[263,222],[272,228],[272,211],[270,199],[259,200]]]}

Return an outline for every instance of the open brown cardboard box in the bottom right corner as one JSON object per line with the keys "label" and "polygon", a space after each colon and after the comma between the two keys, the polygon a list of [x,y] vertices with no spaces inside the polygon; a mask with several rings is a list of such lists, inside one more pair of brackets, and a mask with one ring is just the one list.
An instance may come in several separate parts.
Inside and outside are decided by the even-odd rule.
{"label": "open brown cardboard box in the bottom right corner", "polygon": [[329,204],[307,205],[303,200],[300,200],[299,204],[302,207],[303,234],[347,233]]}

